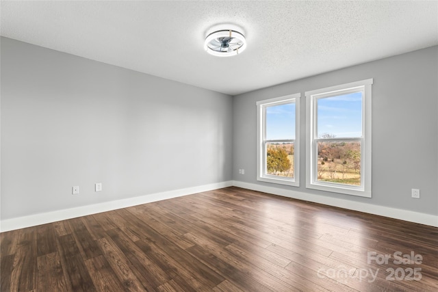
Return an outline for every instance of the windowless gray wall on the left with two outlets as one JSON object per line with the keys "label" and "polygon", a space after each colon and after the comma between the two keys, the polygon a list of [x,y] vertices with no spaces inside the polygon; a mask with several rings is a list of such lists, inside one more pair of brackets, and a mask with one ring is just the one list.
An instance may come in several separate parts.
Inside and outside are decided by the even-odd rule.
{"label": "windowless gray wall on the left with two outlets", "polygon": [[1,38],[1,219],[229,181],[232,105]]}

